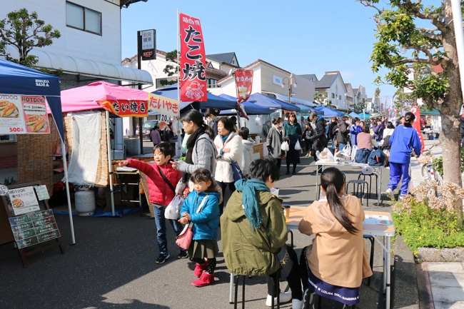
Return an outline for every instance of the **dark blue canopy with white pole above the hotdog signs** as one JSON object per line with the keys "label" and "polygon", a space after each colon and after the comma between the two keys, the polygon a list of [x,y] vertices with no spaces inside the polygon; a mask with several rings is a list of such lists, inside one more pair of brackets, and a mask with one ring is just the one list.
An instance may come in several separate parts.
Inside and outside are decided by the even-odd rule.
{"label": "dark blue canopy with white pole above the hotdog signs", "polygon": [[[0,93],[16,94],[19,96],[45,96],[49,103],[61,138],[61,151],[66,153],[64,146],[63,115],[61,113],[60,79],[58,76],[42,73],[20,64],[0,59]],[[51,156],[51,153],[50,153]],[[71,215],[71,198],[69,196],[68,168],[66,156],[63,156],[64,176],[66,179],[66,193],[68,198],[69,221],[71,223],[71,237],[74,239],[74,225]]]}

